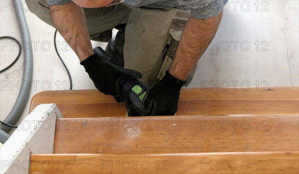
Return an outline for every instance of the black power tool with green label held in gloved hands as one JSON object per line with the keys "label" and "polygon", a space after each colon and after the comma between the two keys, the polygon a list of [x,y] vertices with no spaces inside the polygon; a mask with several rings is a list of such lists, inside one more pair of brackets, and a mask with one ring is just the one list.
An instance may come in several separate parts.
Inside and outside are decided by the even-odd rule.
{"label": "black power tool with green label held in gloved hands", "polygon": [[[96,47],[94,53],[99,56],[101,61],[115,64],[111,57],[101,47]],[[143,85],[137,79],[120,79],[117,86],[119,96],[125,100],[125,106],[129,116],[154,115],[154,102],[150,102],[147,108],[143,102],[149,87]]]}

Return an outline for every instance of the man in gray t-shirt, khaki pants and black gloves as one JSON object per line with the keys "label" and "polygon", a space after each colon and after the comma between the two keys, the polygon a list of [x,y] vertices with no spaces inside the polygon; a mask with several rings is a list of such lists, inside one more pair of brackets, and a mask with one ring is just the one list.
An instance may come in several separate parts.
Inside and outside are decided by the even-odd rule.
{"label": "man in gray t-shirt, khaki pants and black gloves", "polygon": [[[26,3],[33,6],[33,1]],[[37,9],[29,9],[60,32],[101,92],[123,101],[118,80],[141,78],[141,72],[141,82],[151,86],[145,107],[155,102],[155,115],[173,115],[181,87],[215,36],[226,1],[39,0]],[[93,52],[90,39],[108,41],[113,28],[123,33],[108,51],[114,59],[124,57],[125,68],[105,64]]]}

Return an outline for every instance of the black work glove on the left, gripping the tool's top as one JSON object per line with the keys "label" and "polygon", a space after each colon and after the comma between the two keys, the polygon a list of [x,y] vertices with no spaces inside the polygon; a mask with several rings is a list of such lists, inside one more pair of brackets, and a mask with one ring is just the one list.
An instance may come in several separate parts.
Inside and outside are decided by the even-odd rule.
{"label": "black work glove on the left, gripping the tool's top", "polygon": [[84,66],[96,88],[106,95],[113,95],[118,102],[124,101],[122,96],[117,94],[119,81],[142,77],[142,74],[137,71],[125,69],[110,62],[103,62],[96,54],[91,55],[80,64]]}

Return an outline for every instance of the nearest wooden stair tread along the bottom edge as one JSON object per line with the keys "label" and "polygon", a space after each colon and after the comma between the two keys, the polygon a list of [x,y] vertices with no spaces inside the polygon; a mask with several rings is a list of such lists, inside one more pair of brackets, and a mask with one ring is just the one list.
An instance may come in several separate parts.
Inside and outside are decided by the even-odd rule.
{"label": "nearest wooden stair tread along the bottom edge", "polygon": [[31,155],[30,174],[298,174],[298,152]]}

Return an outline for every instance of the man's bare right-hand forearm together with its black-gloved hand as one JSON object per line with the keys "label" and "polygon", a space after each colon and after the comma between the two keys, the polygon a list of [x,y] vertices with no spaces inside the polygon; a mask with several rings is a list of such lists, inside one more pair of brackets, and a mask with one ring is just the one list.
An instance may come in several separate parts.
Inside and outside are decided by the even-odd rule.
{"label": "man's bare right-hand forearm together with its black-gloved hand", "polygon": [[148,110],[151,107],[150,114],[174,115],[180,89],[215,36],[221,16],[222,12],[209,19],[189,18],[169,71],[145,96],[145,107]]}

